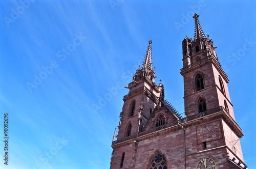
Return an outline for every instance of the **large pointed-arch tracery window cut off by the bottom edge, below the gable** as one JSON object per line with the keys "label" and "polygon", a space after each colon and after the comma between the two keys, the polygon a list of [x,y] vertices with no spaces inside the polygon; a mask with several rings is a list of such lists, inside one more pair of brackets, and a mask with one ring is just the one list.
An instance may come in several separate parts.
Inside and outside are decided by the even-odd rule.
{"label": "large pointed-arch tracery window cut off by the bottom edge, below the gable", "polygon": [[160,151],[156,151],[148,161],[148,167],[150,169],[167,169],[166,157]]}

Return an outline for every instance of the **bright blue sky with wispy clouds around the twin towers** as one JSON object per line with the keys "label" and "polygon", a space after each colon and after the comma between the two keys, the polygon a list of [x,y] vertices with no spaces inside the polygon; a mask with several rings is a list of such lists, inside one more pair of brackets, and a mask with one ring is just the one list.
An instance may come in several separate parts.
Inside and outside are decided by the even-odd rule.
{"label": "bright blue sky with wispy clouds around the twin towers", "polygon": [[194,37],[194,13],[218,47],[244,160],[256,168],[256,2],[0,3],[1,126],[9,117],[9,165],[1,160],[1,168],[109,168],[124,86],[150,39],[156,82],[162,79],[166,99],[182,113],[181,41]]}

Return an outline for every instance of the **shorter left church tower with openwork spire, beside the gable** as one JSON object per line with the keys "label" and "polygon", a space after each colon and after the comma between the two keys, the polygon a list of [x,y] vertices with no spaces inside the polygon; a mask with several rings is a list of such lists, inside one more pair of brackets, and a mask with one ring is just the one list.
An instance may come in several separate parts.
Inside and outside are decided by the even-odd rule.
{"label": "shorter left church tower with openwork spire, beside the gable", "polygon": [[161,85],[155,83],[155,70],[152,66],[152,41],[149,41],[143,65],[137,69],[133,81],[125,88],[129,94],[123,97],[123,108],[120,113],[118,140],[137,136],[145,126],[152,110],[158,103]]}

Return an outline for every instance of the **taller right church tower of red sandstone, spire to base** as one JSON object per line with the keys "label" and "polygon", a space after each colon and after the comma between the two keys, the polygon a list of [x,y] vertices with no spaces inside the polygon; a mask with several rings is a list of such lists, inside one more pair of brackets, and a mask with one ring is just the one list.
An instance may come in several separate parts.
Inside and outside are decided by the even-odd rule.
{"label": "taller right church tower of red sandstone, spire to base", "polygon": [[234,118],[228,92],[229,80],[218,60],[217,47],[209,35],[205,36],[198,17],[193,16],[194,39],[185,37],[182,41],[185,117],[187,121],[195,119],[189,124],[195,134],[186,133],[186,154],[196,154],[185,155],[186,161],[202,158],[197,167],[205,168],[204,160],[211,157],[216,168],[247,168],[239,140],[243,132]]}

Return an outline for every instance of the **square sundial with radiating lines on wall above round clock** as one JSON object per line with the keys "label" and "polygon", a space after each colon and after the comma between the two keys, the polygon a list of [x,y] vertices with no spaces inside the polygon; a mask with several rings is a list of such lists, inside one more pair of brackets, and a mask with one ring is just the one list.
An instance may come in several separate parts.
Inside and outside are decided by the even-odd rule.
{"label": "square sundial with radiating lines on wall above round clock", "polygon": [[222,138],[222,129],[220,121],[215,121],[201,126],[197,126],[197,143],[210,142]]}

